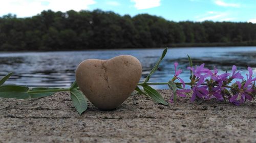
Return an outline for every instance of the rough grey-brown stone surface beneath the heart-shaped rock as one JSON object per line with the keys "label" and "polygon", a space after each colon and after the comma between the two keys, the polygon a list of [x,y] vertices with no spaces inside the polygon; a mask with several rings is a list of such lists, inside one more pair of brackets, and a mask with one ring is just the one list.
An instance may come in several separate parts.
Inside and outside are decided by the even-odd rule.
{"label": "rough grey-brown stone surface beneath the heart-shaped rock", "polygon": [[[170,91],[160,91],[168,100]],[[179,99],[159,105],[142,95],[112,111],[89,103],[81,116],[69,94],[0,99],[0,142],[256,142],[256,102],[242,106]]]}

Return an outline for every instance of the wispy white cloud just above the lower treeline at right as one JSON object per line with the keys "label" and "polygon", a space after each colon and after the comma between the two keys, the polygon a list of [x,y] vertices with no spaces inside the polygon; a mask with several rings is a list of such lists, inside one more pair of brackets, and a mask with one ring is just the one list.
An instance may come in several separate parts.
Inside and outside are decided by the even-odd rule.
{"label": "wispy white cloud just above the lower treeline at right", "polygon": [[234,18],[229,17],[229,12],[217,12],[217,11],[208,11],[204,15],[196,16],[197,21],[205,21],[205,20],[212,20],[212,21],[230,21]]}

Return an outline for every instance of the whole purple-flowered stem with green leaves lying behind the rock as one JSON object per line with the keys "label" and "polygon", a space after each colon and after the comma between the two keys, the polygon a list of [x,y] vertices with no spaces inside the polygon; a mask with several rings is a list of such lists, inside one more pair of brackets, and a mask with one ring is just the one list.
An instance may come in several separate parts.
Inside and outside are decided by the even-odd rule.
{"label": "whole purple-flowered stem with green leaves lying behind the rock", "polygon": [[[152,98],[154,101],[168,105],[164,100],[162,95],[150,87],[152,84],[166,84],[171,90],[173,90],[173,95],[170,96],[170,102],[175,102],[177,97],[186,97],[191,95],[191,101],[195,99],[209,100],[217,99],[221,101],[228,101],[235,105],[240,105],[246,100],[251,101],[256,95],[255,80],[252,78],[252,69],[248,67],[247,78],[244,77],[237,71],[237,67],[232,67],[231,73],[218,74],[218,69],[209,70],[204,68],[204,64],[200,66],[193,67],[193,63],[188,56],[190,70],[190,82],[184,82],[179,75],[182,73],[181,69],[178,68],[178,63],[174,63],[175,74],[174,77],[168,82],[158,82],[152,83],[148,82],[151,75],[158,69],[159,64],[163,60],[167,48],[163,50],[162,56],[157,61],[151,72],[147,75],[145,80],[141,83],[138,83],[136,91],[140,94],[143,94],[149,98]],[[76,81],[73,82],[70,88],[28,88],[27,86],[20,85],[4,85],[5,81],[11,76],[12,73],[9,73],[2,79],[0,79],[0,97],[3,98],[17,98],[17,99],[27,99],[27,98],[38,98],[46,97],[53,95],[55,92],[68,91],[70,92],[71,100],[78,111],[81,114],[83,111],[87,110],[87,99],[79,91],[79,87]],[[234,82],[233,80],[238,80]],[[239,81],[240,80],[240,81]],[[189,88],[186,88],[186,85],[189,85]],[[141,87],[141,88],[139,88]],[[141,90],[143,89],[143,90]]]}

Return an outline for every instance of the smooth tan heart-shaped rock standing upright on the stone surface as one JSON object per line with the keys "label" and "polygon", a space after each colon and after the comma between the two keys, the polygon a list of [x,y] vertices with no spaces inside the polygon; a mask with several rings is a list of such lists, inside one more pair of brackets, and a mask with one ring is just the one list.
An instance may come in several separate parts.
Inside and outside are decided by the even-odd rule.
{"label": "smooth tan heart-shaped rock standing upright on the stone surface", "polygon": [[102,110],[121,105],[135,90],[142,73],[138,59],[119,55],[110,60],[89,59],[76,69],[82,93]]}

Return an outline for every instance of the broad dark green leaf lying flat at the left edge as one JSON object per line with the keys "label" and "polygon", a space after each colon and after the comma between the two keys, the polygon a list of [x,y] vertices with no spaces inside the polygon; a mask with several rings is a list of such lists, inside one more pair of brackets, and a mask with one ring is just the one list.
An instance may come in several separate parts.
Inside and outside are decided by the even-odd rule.
{"label": "broad dark green leaf lying flat at the left edge", "polygon": [[30,97],[28,90],[29,88],[24,86],[3,85],[0,86],[0,97],[26,99]]}

